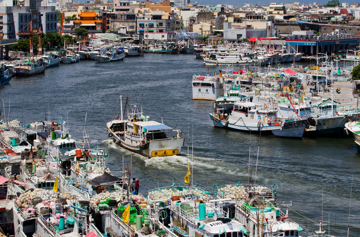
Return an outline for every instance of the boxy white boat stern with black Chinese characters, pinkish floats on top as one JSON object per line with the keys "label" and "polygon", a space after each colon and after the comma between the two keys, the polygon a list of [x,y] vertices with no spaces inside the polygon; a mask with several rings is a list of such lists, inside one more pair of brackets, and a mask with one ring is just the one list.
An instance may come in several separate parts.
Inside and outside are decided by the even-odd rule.
{"label": "boxy white boat stern with black Chinese characters, pinkish floats on top", "polygon": [[219,76],[193,76],[193,99],[216,100],[224,96],[224,84]]}

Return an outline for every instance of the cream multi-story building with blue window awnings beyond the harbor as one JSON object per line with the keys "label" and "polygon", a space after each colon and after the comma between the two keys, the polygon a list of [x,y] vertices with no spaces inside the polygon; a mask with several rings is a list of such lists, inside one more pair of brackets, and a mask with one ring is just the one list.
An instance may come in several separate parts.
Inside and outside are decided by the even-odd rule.
{"label": "cream multi-story building with blue window awnings beyond the harbor", "polygon": [[137,21],[137,33],[144,32],[168,32],[171,31],[170,15],[163,15],[162,12],[154,12],[153,14],[145,14],[139,16]]}

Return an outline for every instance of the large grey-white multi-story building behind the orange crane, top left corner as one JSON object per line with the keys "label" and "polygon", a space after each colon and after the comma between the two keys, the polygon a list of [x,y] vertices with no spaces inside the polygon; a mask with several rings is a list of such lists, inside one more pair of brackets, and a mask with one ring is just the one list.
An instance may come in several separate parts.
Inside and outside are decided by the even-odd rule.
{"label": "large grey-white multi-story building behind the orange crane, top left corner", "polygon": [[[55,6],[41,6],[41,2],[30,0],[30,6],[0,6],[0,33],[3,39],[19,39],[17,32],[29,31],[26,25],[32,21],[32,28],[46,33],[57,31]],[[37,6],[38,5],[38,6]]]}

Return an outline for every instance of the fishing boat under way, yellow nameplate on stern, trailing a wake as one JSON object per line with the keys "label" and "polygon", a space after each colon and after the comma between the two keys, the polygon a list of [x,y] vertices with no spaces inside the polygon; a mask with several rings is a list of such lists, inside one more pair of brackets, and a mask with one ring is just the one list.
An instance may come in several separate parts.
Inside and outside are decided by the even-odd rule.
{"label": "fishing boat under way, yellow nameplate on stern, trailing a wake", "polygon": [[[123,119],[122,96],[119,98],[121,117],[107,123],[109,137],[113,137],[116,144],[129,151],[139,153],[145,157],[180,155],[184,138],[181,131],[173,130],[169,126],[156,121],[150,121],[149,116],[144,116],[139,111],[138,104],[132,105],[127,119]],[[126,99],[126,104],[128,98]],[[125,104],[125,106],[126,106]],[[115,108],[116,111],[117,108]],[[176,134],[170,135],[170,132]]]}

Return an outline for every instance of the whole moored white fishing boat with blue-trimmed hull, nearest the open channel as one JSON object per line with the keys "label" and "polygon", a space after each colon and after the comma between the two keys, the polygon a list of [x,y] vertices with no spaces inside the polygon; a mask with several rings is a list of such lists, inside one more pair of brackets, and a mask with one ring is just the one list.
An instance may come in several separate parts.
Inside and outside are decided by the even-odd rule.
{"label": "whole moored white fishing boat with blue-trimmed hull, nearest the open channel", "polygon": [[210,118],[217,128],[277,137],[302,138],[307,120],[278,118],[276,107],[269,107],[250,101],[235,102],[233,109],[215,109],[210,114]]}

